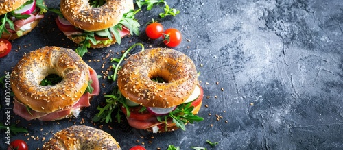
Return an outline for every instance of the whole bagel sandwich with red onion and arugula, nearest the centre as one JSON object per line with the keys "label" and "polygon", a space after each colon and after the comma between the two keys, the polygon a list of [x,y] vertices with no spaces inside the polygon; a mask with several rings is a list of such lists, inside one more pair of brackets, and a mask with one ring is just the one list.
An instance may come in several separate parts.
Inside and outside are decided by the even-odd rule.
{"label": "whole bagel sandwich with red onion and arugula, nearest the centre", "polygon": [[131,127],[171,132],[203,120],[197,115],[203,90],[196,66],[184,53],[154,48],[130,55],[117,84],[126,101],[120,108]]}

